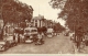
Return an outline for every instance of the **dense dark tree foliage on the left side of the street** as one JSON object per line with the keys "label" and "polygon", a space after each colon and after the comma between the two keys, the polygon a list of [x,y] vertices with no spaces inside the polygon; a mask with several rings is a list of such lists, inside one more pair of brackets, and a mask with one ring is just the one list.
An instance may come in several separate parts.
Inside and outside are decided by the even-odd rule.
{"label": "dense dark tree foliage on the left side of the street", "polygon": [[[25,20],[31,21],[33,16],[33,8],[19,0],[0,0],[1,19],[3,27],[9,23],[21,23]],[[2,31],[3,32],[3,31]],[[1,34],[2,35],[2,34]]]}

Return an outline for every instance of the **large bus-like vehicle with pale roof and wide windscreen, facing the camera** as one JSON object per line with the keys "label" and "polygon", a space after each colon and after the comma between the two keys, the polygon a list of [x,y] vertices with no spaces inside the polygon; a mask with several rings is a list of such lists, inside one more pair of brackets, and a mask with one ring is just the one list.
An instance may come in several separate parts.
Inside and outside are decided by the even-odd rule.
{"label": "large bus-like vehicle with pale roof and wide windscreen, facing the camera", "polygon": [[26,27],[24,29],[24,43],[33,43],[37,37],[36,27]]}

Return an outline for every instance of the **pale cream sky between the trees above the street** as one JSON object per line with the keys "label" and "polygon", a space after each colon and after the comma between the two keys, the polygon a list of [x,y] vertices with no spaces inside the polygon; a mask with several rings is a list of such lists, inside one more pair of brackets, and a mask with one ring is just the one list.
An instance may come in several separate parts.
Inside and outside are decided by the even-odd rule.
{"label": "pale cream sky between the trees above the street", "polygon": [[61,10],[53,9],[48,2],[51,0],[20,0],[23,3],[26,3],[29,5],[32,5],[33,8],[33,16],[37,16],[38,14],[44,15],[47,20],[53,20],[56,22],[59,22],[62,25],[65,24],[65,21],[57,19],[57,13],[61,12]]}

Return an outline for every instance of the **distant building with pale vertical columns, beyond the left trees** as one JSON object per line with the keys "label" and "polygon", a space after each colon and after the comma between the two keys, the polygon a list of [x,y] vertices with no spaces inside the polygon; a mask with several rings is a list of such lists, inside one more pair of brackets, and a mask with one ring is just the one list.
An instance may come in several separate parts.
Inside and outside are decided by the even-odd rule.
{"label": "distant building with pale vertical columns, beyond the left trees", "polygon": [[32,26],[42,27],[42,26],[53,26],[54,22],[52,20],[46,20],[43,15],[34,16],[30,23]]}

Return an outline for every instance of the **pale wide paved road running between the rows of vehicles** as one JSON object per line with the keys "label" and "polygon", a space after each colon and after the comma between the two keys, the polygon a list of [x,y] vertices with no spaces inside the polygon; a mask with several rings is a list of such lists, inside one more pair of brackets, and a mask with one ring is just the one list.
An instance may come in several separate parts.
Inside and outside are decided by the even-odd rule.
{"label": "pale wide paved road running between the rows of vehicles", "polygon": [[34,45],[32,44],[19,44],[18,46],[11,47],[1,54],[74,54],[74,45],[69,37],[61,34],[52,38],[45,37],[45,44]]}

